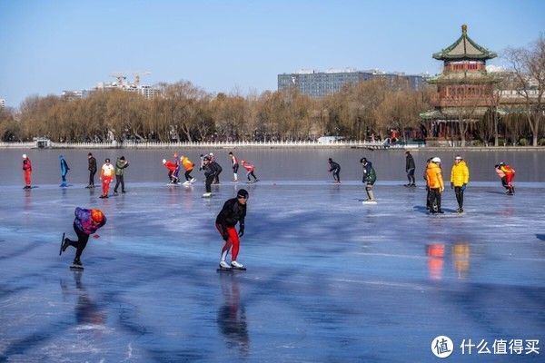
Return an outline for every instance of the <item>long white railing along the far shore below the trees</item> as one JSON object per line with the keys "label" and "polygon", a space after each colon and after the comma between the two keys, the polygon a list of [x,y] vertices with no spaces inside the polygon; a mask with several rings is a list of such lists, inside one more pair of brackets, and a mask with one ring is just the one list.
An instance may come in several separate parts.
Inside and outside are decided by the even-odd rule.
{"label": "long white railing along the far shore below the trees", "polygon": [[[423,143],[387,144],[384,142],[367,141],[268,141],[268,142],[48,142],[45,148],[54,149],[112,149],[112,148],[136,148],[136,149],[167,149],[167,148],[237,148],[237,147],[279,147],[279,148],[305,148],[305,147],[362,147],[372,149],[386,148],[419,148]],[[0,148],[38,148],[37,142],[0,142]]]}

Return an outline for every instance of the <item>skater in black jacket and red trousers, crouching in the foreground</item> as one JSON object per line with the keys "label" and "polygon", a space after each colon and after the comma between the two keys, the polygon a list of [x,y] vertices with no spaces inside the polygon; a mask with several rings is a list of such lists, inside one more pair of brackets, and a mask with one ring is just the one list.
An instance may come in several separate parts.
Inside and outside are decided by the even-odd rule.
{"label": "skater in black jacket and red trousers, crouching in the foreground", "polygon": [[[239,269],[243,270],[244,266],[237,262],[239,253],[240,240],[239,237],[244,235],[244,217],[246,217],[246,202],[248,201],[248,191],[241,189],[237,192],[236,198],[225,201],[222,211],[216,218],[216,228],[220,232],[225,244],[222,248],[220,269]],[[239,223],[239,231],[236,232],[234,226]],[[225,258],[231,251],[231,265]]]}

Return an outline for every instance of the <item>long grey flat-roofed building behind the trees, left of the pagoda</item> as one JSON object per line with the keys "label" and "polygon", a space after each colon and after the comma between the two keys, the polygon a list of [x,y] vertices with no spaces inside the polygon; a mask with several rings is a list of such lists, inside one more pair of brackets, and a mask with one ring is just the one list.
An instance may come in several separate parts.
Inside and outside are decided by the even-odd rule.
{"label": "long grey flat-roofed building behind the trees, left of the pagoda", "polygon": [[346,84],[359,83],[377,78],[386,79],[391,83],[405,82],[413,89],[419,88],[424,83],[422,75],[387,74],[376,70],[300,71],[294,74],[278,74],[278,90],[295,87],[301,93],[311,97],[322,97],[339,92]]}

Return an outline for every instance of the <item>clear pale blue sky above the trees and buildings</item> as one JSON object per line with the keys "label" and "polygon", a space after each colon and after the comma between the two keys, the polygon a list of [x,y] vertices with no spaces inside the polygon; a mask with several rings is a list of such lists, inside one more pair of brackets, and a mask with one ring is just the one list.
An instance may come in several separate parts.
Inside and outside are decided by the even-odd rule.
{"label": "clear pale blue sky above the trees and buildings", "polygon": [[0,98],[18,107],[114,72],[243,94],[301,69],[436,74],[431,54],[462,24],[494,52],[527,46],[545,32],[545,1],[0,0]]}

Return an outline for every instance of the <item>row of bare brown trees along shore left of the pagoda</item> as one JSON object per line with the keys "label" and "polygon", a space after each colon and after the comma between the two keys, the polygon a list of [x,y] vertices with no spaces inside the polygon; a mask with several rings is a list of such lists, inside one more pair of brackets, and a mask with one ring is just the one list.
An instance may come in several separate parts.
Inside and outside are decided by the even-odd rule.
{"label": "row of bare brown trees along shore left of the pagoda", "polygon": [[152,99],[121,90],[82,99],[31,96],[18,113],[0,114],[3,141],[54,142],[281,141],[338,135],[383,139],[395,129],[420,129],[430,88],[372,80],[313,99],[296,89],[261,94],[206,93],[190,82],[162,83]]}

